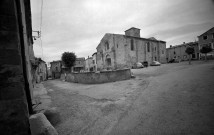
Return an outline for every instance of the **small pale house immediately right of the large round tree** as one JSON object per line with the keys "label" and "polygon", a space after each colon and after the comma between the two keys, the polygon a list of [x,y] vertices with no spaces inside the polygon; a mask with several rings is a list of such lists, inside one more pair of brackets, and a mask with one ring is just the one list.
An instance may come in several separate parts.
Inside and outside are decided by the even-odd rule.
{"label": "small pale house immediately right of the large round tree", "polygon": [[76,58],[75,65],[73,67],[73,72],[82,72],[85,69],[85,58]]}

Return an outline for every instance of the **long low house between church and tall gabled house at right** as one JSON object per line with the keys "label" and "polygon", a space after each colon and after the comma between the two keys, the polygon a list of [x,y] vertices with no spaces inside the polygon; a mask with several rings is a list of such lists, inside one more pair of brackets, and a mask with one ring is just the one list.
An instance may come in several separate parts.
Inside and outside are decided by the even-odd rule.
{"label": "long low house between church and tall gabled house at right", "polygon": [[166,60],[169,62],[172,59],[177,59],[178,61],[185,61],[188,60],[188,54],[185,52],[188,46],[194,47],[194,54],[192,54],[192,59],[197,60],[199,59],[199,49],[198,49],[198,42],[189,42],[183,43],[180,45],[172,46],[170,45],[169,48],[166,48]]}

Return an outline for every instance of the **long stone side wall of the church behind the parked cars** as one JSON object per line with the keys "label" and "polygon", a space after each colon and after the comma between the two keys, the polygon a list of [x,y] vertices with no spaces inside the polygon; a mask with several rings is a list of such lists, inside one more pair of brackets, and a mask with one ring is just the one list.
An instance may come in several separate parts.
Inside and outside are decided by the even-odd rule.
{"label": "long stone side wall of the church behind the parked cars", "polygon": [[[131,40],[134,49],[131,50]],[[148,52],[147,43],[150,51]],[[132,38],[123,35],[114,35],[117,68],[131,68],[136,62],[148,61],[150,64],[156,60],[166,63],[166,43],[161,41]]]}

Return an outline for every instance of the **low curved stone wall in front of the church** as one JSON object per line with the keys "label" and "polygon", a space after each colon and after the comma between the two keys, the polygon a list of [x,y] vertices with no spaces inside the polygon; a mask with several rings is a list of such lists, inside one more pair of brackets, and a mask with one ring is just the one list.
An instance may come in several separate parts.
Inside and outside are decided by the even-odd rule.
{"label": "low curved stone wall in front of the church", "polygon": [[[61,79],[65,78],[64,74]],[[106,82],[114,82],[127,80],[131,78],[131,70],[123,69],[116,71],[102,71],[100,73],[86,72],[86,73],[70,73],[66,76],[67,82],[84,83],[84,84],[98,84]]]}

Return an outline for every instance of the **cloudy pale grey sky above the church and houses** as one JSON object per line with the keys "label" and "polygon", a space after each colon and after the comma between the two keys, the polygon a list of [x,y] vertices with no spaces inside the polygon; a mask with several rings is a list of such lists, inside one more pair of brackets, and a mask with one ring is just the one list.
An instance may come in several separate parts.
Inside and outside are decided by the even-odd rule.
{"label": "cloudy pale grey sky above the church and houses", "polygon": [[105,33],[131,27],[166,47],[197,41],[214,27],[214,0],[31,0],[31,14],[33,31],[41,29],[35,56],[51,62],[63,52],[91,56]]}

